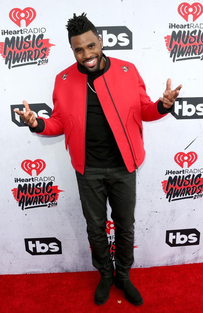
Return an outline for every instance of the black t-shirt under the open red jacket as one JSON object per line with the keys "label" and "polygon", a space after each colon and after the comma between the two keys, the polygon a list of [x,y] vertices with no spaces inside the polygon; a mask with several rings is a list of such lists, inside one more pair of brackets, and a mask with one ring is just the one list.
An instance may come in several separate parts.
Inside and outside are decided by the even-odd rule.
{"label": "black t-shirt under the open red jacket", "polygon": [[[93,90],[95,90],[93,81],[101,76],[103,71],[104,69],[101,69],[97,75],[87,75],[88,83]],[[120,167],[125,165],[97,94],[88,85],[85,165],[91,167]]]}

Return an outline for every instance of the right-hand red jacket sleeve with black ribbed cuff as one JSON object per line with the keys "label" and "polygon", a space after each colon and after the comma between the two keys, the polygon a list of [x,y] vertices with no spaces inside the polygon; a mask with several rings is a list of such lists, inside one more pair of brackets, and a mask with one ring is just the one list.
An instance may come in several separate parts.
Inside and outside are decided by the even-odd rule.
{"label": "right-hand red jacket sleeve with black ribbed cuff", "polygon": [[166,114],[171,112],[172,107],[167,110],[164,108],[163,103],[160,100],[157,100],[156,102],[151,101],[150,97],[146,94],[145,83],[136,67],[135,70],[138,76],[142,121],[156,121],[163,116],[166,116]]}

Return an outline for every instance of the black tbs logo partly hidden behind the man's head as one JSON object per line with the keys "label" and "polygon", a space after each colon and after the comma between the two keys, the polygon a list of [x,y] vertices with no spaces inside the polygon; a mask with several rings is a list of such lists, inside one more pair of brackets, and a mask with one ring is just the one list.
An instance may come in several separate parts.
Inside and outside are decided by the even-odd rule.
{"label": "black tbs logo partly hidden behind the man's head", "polygon": [[132,49],[132,32],[126,26],[97,27],[104,50]]}

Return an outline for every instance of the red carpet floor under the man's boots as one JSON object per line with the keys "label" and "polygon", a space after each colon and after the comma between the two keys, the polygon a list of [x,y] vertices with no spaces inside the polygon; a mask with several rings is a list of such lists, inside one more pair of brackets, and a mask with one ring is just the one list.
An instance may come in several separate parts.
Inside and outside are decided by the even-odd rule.
{"label": "red carpet floor under the man's boots", "polygon": [[0,275],[0,312],[203,313],[203,263],[131,269],[130,275],[144,301],[140,306],[114,285],[107,302],[96,305],[97,271]]}

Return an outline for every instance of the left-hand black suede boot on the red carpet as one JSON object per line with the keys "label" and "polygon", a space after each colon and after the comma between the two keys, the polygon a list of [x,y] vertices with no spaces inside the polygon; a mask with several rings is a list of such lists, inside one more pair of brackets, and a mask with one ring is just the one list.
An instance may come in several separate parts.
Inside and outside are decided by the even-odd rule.
{"label": "left-hand black suede boot on the red carpet", "polygon": [[104,304],[110,296],[110,288],[114,282],[114,275],[108,278],[101,278],[95,290],[94,301],[97,304]]}

